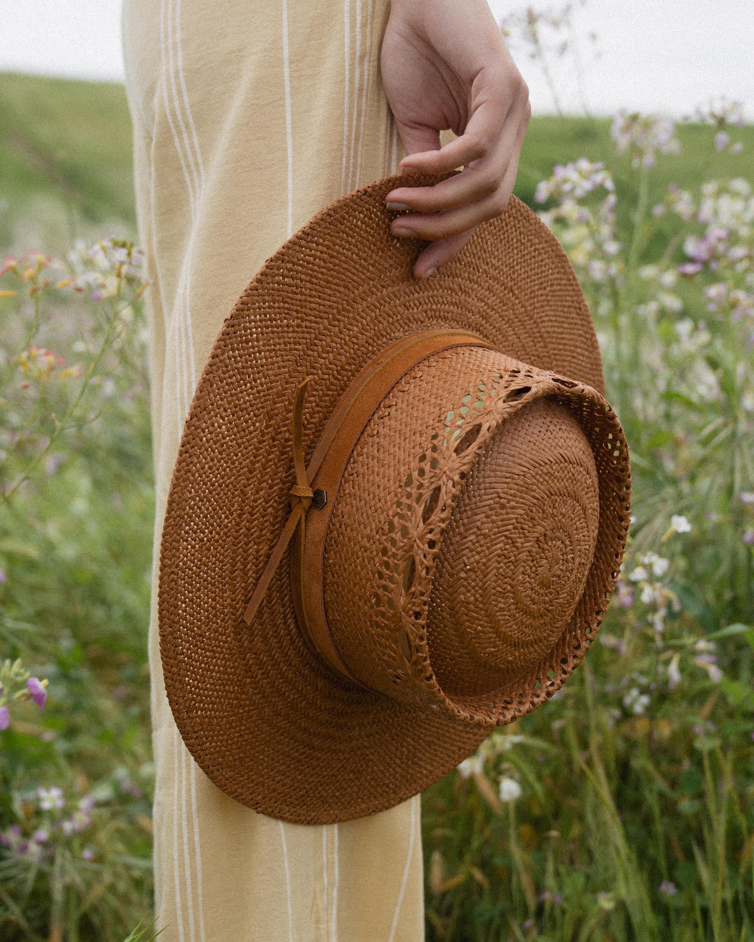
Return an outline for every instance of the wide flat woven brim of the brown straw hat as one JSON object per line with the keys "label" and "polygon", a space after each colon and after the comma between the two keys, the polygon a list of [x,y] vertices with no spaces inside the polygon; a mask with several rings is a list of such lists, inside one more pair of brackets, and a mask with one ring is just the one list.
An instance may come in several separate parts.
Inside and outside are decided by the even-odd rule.
{"label": "wide flat woven brim of the brown straw hat", "polygon": [[573,269],[515,198],[433,278],[412,277],[423,243],[390,235],[385,195],[428,182],[392,177],[343,197],[270,258],[222,327],[173,473],[158,596],[172,713],[219,788],[282,820],[330,823],[399,804],[489,733],[335,674],[303,639],[287,565],[254,623],[243,621],[290,509],[297,384],[311,378],[307,456],[354,377],[419,331],[471,331],[603,390]]}

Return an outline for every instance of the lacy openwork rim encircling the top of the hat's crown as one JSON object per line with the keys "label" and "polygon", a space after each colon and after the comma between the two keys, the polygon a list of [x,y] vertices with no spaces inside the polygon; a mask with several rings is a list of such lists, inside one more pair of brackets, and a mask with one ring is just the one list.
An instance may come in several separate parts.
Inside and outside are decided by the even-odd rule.
{"label": "lacy openwork rim encircling the top of the hat's crown", "polygon": [[[507,358],[501,358],[503,361]],[[454,404],[416,470],[402,480],[386,527],[375,593],[377,617],[393,639],[384,649],[398,695],[416,698],[464,723],[509,723],[548,699],[565,682],[593,641],[613,592],[630,517],[628,448],[611,407],[591,387],[524,365],[493,373]],[[437,558],[465,481],[503,422],[542,398],[574,414],[591,445],[600,481],[602,528],[582,599],[563,636],[533,670],[494,694],[451,697],[434,673],[427,614]]]}

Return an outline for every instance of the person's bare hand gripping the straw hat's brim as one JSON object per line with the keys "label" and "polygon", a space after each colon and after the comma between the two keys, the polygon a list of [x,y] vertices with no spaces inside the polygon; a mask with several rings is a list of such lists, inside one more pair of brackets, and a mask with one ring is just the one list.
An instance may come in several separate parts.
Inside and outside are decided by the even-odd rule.
{"label": "person's bare hand gripping the straw hat's brim", "polygon": [[[429,239],[416,278],[429,278],[500,216],[513,191],[531,116],[529,89],[485,0],[392,0],[382,46],[383,84],[406,156],[401,171],[464,171],[434,187],[388,193],[393,235]],[[458,137],[440,149],[440,131]]]}

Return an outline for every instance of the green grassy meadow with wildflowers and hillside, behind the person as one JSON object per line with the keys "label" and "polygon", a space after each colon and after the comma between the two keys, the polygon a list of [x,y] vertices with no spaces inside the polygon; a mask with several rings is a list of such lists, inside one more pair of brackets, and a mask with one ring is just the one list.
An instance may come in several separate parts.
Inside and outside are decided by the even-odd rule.
{"label": "green grassy meadow with wildflowers and hillside, behind the person", "polygon": [[[516,192],[582,280],[635,520],[563,692],[424,795],[431,942],[754,942],[754,128],[729,132],[742,153],[682,124],[645,170],[609,121],[526,138]],[[580,157],[615,198],[591,165],[575,203],[549,179]],[[121,87],[0,74],[4,252],[135,237],[130,164]],[[73,287],[33,260],[0,276],[0,664],[49,678],[0,732],[4,942],[123,942],[151,905],[140,288],[120,243],[76,251]]]}

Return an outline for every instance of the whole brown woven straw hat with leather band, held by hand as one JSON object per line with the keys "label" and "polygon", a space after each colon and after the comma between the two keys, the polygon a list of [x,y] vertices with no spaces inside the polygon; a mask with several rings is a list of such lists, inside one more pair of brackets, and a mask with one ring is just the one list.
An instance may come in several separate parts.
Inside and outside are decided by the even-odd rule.
{"label": "whole brown woven straw hat with leather band, held by hand", "polygon": [[391,178],[241,294],[193,399],[162,538],[189,751],[274,818],[369,815],[543,703],[595,637],[628,451],[582,293],[513,199],[427,282]]}

